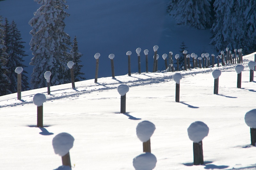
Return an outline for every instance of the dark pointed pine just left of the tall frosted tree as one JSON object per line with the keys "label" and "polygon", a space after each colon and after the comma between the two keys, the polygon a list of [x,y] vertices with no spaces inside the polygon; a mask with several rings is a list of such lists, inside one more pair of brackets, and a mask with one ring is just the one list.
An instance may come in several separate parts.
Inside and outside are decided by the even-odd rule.
{"label": "dark pointed pine just left of the tall frosted tree", "polygon": [[23,57],[28,56],[23,50],[25,48],[23,43],[25,42],[22,41],[20,31],[18,30],[17,25],[14,21],[12,21],[10,25],[8,19],[5,18],[4,30],[4,45],[6,46],[6,52],[8,53],[8,61],[6,64],[6,68],[8,70],[7,76],[11,81],[9,90],[12,93],[17,92],[17,73],[15,73],[14,71],[16,67],[23,68],[21,76],[21,90],[28,90],[28,76],[26,75],[28,72],[26,72],[24,69],[27,66],[23,64]]}

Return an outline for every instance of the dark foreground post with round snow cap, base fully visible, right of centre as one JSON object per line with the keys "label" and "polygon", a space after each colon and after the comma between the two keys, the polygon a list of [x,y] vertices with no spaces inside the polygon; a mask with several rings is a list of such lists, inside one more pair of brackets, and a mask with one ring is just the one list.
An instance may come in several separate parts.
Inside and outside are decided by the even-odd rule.
{"label": "dark foreground post with round snow cap, base fully visible, right of centre", "polygon": [[188,137],[193,141],[194,165],[204,164],[202,140],[208,133],[208,126],[201,121],[196,121],[188,127]]}

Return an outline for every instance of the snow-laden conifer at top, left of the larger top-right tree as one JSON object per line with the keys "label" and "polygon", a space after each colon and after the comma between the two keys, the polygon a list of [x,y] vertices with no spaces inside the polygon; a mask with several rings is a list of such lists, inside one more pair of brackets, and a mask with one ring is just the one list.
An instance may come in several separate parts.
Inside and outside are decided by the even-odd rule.
{"label": "snow-laden conifer at top, left of the larger top-right tree", "polygon": [[178,24],[189,25],[197,29],[206,29],[212,25],[212,0],[170,0],[167,11]]}

